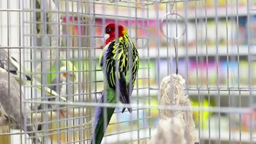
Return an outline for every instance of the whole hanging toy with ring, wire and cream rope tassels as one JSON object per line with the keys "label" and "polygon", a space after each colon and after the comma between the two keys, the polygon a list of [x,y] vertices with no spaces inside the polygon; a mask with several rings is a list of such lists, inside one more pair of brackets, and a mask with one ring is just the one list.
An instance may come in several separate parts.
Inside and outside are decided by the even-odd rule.
{"label": "whole hanging toy with ring, wire and cream rope tassels", "polygon": [[[176,1],[169,1],[171,4],[171,12],[167,13],[161,20],[161,32],[167,38],[171,39],[175,49],[176,60],[176,74],[171,74],[163,78],[160,85],[158,94],[158,103],[161,106],[173,106],[173,107],[191,107],[191,102],[188,99],[188,95],[183,93],[185,90],[185,79],[181,75],[178,75],[178,49],[177,41],[185,34],[186,23],[185,19],[178,13],[175,13],[173,6]],[[182,34],[177,37],[168,37],[163,31],[163,22],[168,15],[177,15],[180,17],[185,25]],[[163,129],[163,126],[165,127]],[[171,127],[171,128],[170,128]],[[174,129],[174,131],[173,131]],[[193,113],[191,110],[169,110],[162,109],[159,111],[159,123],[156,130],[156,134],[151,138],[150,143],[158,143],[159,141],[169,143],[189,143],[194,144],[198,142],[195,131],[195,123],[193,121]],[[177,133],[178,132],[178,133]],[[166,134],[167,133],[167,134]],[[154,142],[155,140],[158,142]]]}

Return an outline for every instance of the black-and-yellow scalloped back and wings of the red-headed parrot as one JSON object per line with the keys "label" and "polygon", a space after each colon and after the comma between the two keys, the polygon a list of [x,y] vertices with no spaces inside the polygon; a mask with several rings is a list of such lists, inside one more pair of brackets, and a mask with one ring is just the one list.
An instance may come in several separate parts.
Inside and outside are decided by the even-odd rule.
{"label": "black-and-yellow scalloped back and wings of the red-headed parrot", "polygon": [[[138,51],[127,34],[119,37],[117,43],[116,39],[111,41],[101,52],[100,66],[105,72],[105,79],[111,89],[119,91],[122,103],[130,103],[129,97],[138,73],[139,60]],[[116,85],[116,76],[119,86]]]}

